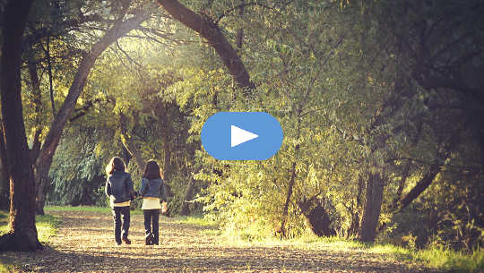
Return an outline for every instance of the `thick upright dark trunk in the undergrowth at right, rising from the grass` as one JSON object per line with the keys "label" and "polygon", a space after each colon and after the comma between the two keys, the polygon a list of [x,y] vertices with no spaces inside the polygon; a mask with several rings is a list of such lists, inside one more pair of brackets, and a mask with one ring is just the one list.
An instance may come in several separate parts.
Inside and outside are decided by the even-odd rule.
{"label": "thick upright dark trunk in the undergrowth at right, rising from the grass", "polygon": [[376,226],[380,218],[384,191],[384,179],[381,174],[369,173],[367,181],[366,202],[359,228],[359,241],[374,242]]}

